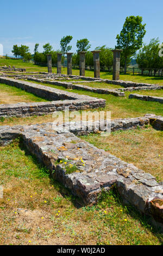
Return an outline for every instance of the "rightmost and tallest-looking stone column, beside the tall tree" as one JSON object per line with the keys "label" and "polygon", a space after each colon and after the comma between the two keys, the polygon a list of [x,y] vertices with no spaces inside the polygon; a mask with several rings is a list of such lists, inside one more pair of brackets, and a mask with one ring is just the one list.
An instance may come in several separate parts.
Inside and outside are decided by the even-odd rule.
{"label": "rightmost and tallest-looking stone column, beside the tall tree", "polygon": [[120,59],[121,59],[121,49],[111,50],[113,52],[113,71],[112,80],[120,79]]}

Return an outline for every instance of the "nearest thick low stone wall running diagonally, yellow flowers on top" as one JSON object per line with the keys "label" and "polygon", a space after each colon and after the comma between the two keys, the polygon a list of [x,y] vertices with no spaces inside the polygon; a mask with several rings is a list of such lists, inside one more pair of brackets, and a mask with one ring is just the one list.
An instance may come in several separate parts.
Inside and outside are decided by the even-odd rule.
{"label": "nearest thick low stone wall running diagonally, yellow flowers on top", "polygon": [[[45,164],[52,178],[82,198],[84,204],[97,203],[99,194],[115,185],[124,203],[163,223],[163,186],[151,174],[93,147],[70,131],[55,130],[51,123],[0,127],[1,144],[17,136]],[[76,166],[76,171],[67,174],[70,166]]]}

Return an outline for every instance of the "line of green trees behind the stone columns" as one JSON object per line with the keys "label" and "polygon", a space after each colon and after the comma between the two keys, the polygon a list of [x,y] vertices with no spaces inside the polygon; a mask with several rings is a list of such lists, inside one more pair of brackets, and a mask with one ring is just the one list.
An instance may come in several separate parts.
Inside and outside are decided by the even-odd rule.
{"label": "line of green trees behind the stone columns", "polygon": [[[143,36],[146,34],[145,30],[146,24],[142,24],[142,17],[140,16],[129,16],[124,22],[122,31],[116,36],[117,45],[115,48],[122,49],[121,53],[121,67],[124,68],[124,74],[126,74],[127,66],[131,62],[131,58],[135,57],[139,68],[142,70],[151,69],[156,70],[163,68],[163,58],[159,56],[159,40],[152,39],[149,45],[143,45]],[[43,52],[38,51],[39,44],[35,44],[34,48],[34,61],[35,63],[47,63],[46,54],[52,54],[52,64],[57,65],[57,52],[62,53],[62,63],[65,63],[65,54],[70,52],[72,46],[70,42],[72,40],[71,35],[64,36],[60,40],[60,50],[54,51],[52,45],[49,43],[43,45]],[[85,65],[93,67],[93,54],[89,50],[91,45],[87,38],[77,40],[76,43],[77,52],[72,56],[72,64],[78,68],[79,66],[79,53],[80,51],[86,51]],[[111,48],[106,47],[106,45],[96,47],[95,50],[101,50],[100,65],[103,69],[104,67],[110,70],[113,61],[113,54]],[[29,47],[26,45],[21,45],[18,47],[14,45],[12,52],[16,58],[23,58],[24,60],[30,60],[32,55],[29,52]]]}

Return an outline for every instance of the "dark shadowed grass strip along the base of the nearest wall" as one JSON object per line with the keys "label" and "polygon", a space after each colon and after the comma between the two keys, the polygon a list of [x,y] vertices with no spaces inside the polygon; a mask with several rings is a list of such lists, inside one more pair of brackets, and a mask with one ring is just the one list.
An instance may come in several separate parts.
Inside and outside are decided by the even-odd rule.
{"label": "dark shadowed grass strip along the base of the nearest wall", "polygon": [[[51,175],[49,174],[48,168],[46,168],[44,164],[42,164],[40,161],[38,161],[35,155],[30,153],[30,151],[24,145],[23,139],[20,137],[20,138],[18,138],[18,140],[19,140],[18,145],[19,145],[20,149],[25,152],[26,156],[30,156],[30,159],[33,161],[33,163],[36,164],[39,167],[39,169],[42,170],[40,178],[47,176],[51,185],[54,185],[55,189],[62,195],[62,197],[71,201],[71,203],[77,209],[84,207],[85,205],[82,202],[82,199],[80,199],[76,196],[73,196],[71,191],[68,188],[65,188],[57,180],[52,179]],[[42,173],[42,172],[45,172],[45,173]],[[102,193],[98,197],[97,205],[96,206],[95,205],[94,206],[85,206],[85,209],[91,211],[91,210],[95,210],[95,208],[98,209],[100,206],[105,208],[105,207],[109,207],[112,205],[116,205],[116,206],[121,205],[122,208],[124,209],[124,211],[126,211],[128,215],[130,215],[134,220],[139,221],[141,223],[142,227],[147,228],[149,231],[151,231],[153,234],[155,234],[159,240],[161,240],[162,230],[154,224],[154,219],[152,219],[150,216],[147,216],[145,214],[141,214],[141,212],[139,212],[133,205],[124,204],[123,199],[121,198],[120,194],[118,194],[118,192],[116,190],[116,186],[113,186],[109,192],[102,191]],[[152,221],[153,221],[153,223],[152,223]],[[161,245],[163,245],[163,241],[161,242]]]}

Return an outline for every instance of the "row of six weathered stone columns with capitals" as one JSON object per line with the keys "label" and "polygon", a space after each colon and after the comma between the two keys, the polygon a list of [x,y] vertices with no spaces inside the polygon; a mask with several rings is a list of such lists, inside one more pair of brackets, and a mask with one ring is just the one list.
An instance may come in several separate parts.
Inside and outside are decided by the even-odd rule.
{"label": "row of six weathered stone columns with capitals", "polygon": [[[100,78],[99,50],[92,51],[94,64],[94,77]],[[115,49],[113,52],[113,73],[112,80],[120,79],[120,57],[122,50]],[[67,52],[67,75],[72,75],[72,52]],[[79,52],[79,69],[80,76],[85,76],[85,54]],[[61,57],[62,53],[57,53],[57,74],[61,74]],[[47,54],[48,73],[52,73],[52,54]]]}

